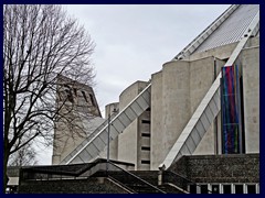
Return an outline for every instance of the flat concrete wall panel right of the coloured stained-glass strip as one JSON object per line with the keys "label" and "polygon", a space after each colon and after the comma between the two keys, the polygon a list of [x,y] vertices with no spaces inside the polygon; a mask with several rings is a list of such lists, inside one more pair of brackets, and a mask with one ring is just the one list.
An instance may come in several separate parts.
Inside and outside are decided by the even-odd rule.
{"label": "flat concrete wall panel right of the coloured stained-glass strip", "polygon": [[259,47],[242,52],[246,153],[259,152]]}

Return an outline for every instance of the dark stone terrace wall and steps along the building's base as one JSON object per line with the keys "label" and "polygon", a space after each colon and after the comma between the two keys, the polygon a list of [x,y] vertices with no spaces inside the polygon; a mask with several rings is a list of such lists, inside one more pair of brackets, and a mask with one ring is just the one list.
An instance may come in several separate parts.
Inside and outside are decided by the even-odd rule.
{"label": "dark stone terrace wall and steps along the building's base", "polygon": [[[105,160],[106,162],[106,160]],[[63,166],[23,167],[19,194],[258,194],[258,154],[183,156],[168,170],[115,170],[104,160]],[[127,169],[131,164],[116,162]],[[93,172],[94,169],[94,172]],[[247,172],[245,172],[247,169]],[[11,170],[11,169],[10,169]],[[18,169],[15,169],[18,170]],[[177,175],[180,174],[180,175]],[[11,173],[10,173],[11,176]],[[136,177],[137,176],[137,177]],[[149,187],[144,185],[145,179]],[[193,180],[193,183],[192,183]],[[152,187],[151,187],[152,185]],[[182,190],[181,190],[181,189]],[[160,191],[158,191],[160,189]],[[162,190],[162,191],[161,191]]]}

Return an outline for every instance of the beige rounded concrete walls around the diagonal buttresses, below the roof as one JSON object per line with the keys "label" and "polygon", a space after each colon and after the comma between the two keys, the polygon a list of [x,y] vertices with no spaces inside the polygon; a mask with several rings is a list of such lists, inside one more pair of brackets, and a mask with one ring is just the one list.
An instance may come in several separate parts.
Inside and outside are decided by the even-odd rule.
{"label": "beige rounded concrete walls around the diagonal buttresses, below the roof", "polygon": [[[151,107],[135,120],[116,140],[120,160],[136,164],[137,169],[158,169],[166,155],[213,84],[236,44],[194,54],[187,59],[163,64],[151,75]],[[245,153],[259,153],[259,37],[250,40],[240,54],[244,101]],[[123,109],[148,82],[136,81],[119,97]],[[142,120],[149,120],[147,124]],[[142,133],[148,133],[142,136]],[[142,151],[141,146],[150,151]],[[142,153],[142,155],[140,154]],[[193,155],[222,154],[221,113],[212,123]],[[141,163],[144,161],[144,164]],[[146,164],[149,161],[150,164]]]}

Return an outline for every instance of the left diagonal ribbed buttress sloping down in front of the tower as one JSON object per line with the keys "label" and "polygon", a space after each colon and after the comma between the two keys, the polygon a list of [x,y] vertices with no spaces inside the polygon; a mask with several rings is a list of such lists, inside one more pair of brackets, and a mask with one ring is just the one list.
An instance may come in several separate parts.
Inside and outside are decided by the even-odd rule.
{"label": "left diagonal ribbed buttress sloping down in front of the tower", "polygon": [[[150,107],[151,84],[149,84],[124,110],[110,118],[110,141]],[[99,155],[107,146],[108,121],[106,120],[95,132],[81,143],[61,164],[87,163]]]}

